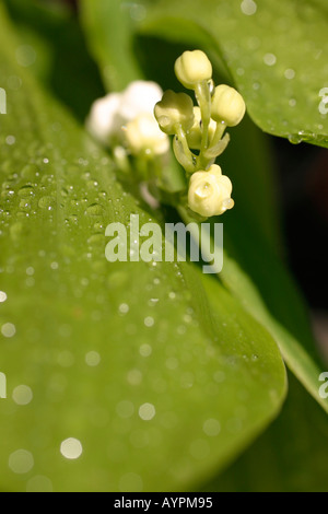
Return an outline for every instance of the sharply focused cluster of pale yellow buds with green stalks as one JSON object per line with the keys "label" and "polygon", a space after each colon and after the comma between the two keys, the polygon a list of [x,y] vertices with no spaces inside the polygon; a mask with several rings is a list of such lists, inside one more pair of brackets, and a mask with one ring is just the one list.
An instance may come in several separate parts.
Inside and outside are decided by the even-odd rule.
{"label": "sharply focused cluster of pale yellow buds with green stalks", "polygon": [[232,183],[214,162],[229,144],[226,127],[242,121],[245,102],[233,87],[214,86],[212,65],[201,50],[185,51],[175,62],[175,73],[195,92],[198,106],[185,93],[166,91],[154,115],[163,133],[174,136],[175,156],[189,179],[189,208],[203,218],[220,215],[234,201]]}

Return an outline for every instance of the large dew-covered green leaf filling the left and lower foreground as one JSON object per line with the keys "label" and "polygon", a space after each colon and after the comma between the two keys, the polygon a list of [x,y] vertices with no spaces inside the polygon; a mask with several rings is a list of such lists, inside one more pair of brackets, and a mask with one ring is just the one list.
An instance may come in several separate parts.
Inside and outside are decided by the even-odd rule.
{"label": "large dew-covered green leaf filling the left and lower foreground", "polygon": [[277,414],[280,353],[198,268],[106,261],[109,222],[155,219],[0,20],[0,488],[190,489]]}

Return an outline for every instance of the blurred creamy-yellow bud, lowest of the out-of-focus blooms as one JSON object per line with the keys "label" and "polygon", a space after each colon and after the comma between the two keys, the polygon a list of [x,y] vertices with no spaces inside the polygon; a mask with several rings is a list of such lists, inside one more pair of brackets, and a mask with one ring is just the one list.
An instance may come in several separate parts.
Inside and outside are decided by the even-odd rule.
{"label": "blurred creamy-yellow bud, lowest of the out-of-focus blooms", "polygon": [[169,140],[160,130],[151,114],[141,114],[124,127],[127,147],[136,156],[162,155],[169,149]]}

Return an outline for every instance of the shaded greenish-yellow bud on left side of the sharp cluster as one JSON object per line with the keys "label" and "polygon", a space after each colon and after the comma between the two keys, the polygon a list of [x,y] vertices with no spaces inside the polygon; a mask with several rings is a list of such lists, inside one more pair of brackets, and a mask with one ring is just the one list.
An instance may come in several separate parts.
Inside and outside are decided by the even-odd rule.
{"label": "shaded greenish-yellow bud on left side of the sharp cluster", "polygon": [[154,115],[163,132],[174,135],[178,125],[187,132],[194,124],[192,100],[186,93],[165,91],[155,105]]}

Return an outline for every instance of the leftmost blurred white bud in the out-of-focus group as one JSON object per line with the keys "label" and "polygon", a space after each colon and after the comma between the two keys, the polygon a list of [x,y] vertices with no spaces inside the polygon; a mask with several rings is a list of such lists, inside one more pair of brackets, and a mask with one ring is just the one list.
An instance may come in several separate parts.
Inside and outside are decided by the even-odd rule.
{"label": "leftmost blurred white bud in the out-of-focus group", "polygon": [[103,144],[109,144],[121,127],[118,115],[120,96],[119,93],[112,93],[95,101],[86,119],[89,132]]}

